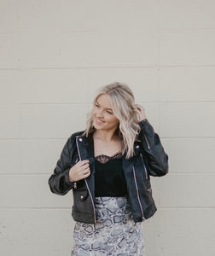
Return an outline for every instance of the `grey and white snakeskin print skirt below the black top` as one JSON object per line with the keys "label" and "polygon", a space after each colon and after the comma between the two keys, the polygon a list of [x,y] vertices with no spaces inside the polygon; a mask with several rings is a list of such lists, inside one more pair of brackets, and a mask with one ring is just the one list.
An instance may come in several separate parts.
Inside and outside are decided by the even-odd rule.
{"label": "grey and white snakeskin print skirt below the black top", "polygon": [[76,222],[72,256],[144,256],[142,223],[126,197],[96,197],[96,224]]}

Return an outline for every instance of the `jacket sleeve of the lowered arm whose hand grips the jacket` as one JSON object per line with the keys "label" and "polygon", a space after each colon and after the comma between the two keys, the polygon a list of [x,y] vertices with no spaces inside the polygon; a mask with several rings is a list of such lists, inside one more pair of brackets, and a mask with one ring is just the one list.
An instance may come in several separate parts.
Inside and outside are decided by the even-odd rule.
{"label": "jacket sleeve of the lowered arm whose hand grips the jacket", "polygon": [[71,137],[68,138],[64,145],[61,157],[57,161],[54,173],[49,177],[49,188],[51,192],[57,195],[65,195],[73,188],[72,182],[69,181],[69,170],[72,167],[70,154],[72,153]]}

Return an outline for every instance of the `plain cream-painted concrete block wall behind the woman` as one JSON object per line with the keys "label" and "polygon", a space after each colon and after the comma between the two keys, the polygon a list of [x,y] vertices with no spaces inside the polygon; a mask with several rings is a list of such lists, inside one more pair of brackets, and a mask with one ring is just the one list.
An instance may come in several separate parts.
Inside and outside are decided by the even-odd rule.
{"label": "plain cream-painted concrete block wall behind the woman", "polygon": [[48,178],[98,87],[129,84],[170,157],[147,256],[215,255],[215,3],[0,1],[0,254],[70,255],[72,194]]}

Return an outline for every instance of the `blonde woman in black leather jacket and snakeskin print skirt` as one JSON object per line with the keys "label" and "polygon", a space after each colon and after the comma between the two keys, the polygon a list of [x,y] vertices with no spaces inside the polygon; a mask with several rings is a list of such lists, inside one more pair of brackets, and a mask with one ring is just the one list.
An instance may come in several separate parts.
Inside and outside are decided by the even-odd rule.
{"label": "blonde woman in black leather jacket and snakeskin print skirt", "polygon": [[154,215],[150,175],[168,172],[168,156],[126,84],[102,87],[85,131],[68,138],[51,191],[73,189],[72,255],[144,255],[142,221]]}

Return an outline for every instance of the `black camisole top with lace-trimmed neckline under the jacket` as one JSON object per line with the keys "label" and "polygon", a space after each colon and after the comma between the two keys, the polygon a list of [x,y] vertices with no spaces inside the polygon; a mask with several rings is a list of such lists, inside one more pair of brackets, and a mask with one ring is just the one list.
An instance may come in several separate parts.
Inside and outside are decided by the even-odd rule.
{"label": "black camisole top with lace-trimmed neckline under the jacket", "polygon": [[125,176],[122,170],[122,154],[99,155],[95,158],[95,196],[127,195]]}

